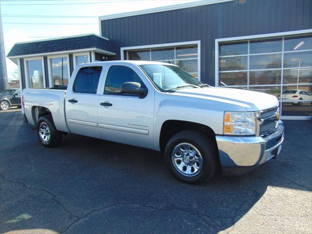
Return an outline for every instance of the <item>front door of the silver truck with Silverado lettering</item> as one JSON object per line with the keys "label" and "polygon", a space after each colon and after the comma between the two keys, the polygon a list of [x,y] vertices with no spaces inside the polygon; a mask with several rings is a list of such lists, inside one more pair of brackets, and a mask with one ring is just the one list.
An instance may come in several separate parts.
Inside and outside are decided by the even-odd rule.
{"label": "front door of the silver truck with Silverado lettering", "polygon": [[[122,94],[121,84],[137,82],[148,88],[144,98]],[[153,148],[154,88],[133,64],[108,69],[98,98],[98,128],[102,139]]]}

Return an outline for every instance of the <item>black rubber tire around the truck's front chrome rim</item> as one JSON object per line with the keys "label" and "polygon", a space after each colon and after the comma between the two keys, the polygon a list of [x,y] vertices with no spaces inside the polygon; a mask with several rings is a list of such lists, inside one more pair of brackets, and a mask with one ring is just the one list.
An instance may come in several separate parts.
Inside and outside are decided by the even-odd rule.
{"label": "black rubber tire around the truck's front chrome rim", "polygon": [[[194,176],[182,175],[174,165],[172,159],[173,150],[181,143],[188,143],[195,146],[202,157],[201,170]],[[218,151],[215,143],[206,135],[191,130],[177,133],[169,139],[165,148],[165,161],[171,174],[175,176],[176,179],[188,184],[205,182],[213,177],[219,168]]]}

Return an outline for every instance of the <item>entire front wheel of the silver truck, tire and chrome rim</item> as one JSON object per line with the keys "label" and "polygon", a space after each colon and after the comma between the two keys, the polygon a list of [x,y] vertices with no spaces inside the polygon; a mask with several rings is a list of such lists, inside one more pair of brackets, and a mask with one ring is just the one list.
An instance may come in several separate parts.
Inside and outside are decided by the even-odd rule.
{"label": "entire front wheel of the silver truck, tire and chrome rim", "polygon": [[210,179],[218,169],[215,144],[196,131],[187,130],[171,137],[165,148],[165,161],[173,176],[189,184]]}

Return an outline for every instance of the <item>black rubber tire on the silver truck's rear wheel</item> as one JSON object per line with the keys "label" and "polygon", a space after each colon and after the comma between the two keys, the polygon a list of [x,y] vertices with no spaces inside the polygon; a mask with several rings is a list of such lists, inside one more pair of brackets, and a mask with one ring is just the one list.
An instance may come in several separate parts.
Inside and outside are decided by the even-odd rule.
{"label": "black rubber tire on the silver truck's rear wheel", "polygon": [[[40,131],[41,126],[48,126],[48,129],[50,130],[49,138],[46,138],[45,140],[43,137],[40,137]],[[44,147],[52,148],[57,147],[60,142],[62,141],[62,132],[59,132],[53,122],[53,118],[51,115],[41,116],[38,119],[37,124],[37,136],[40,141],[40,143]]]}

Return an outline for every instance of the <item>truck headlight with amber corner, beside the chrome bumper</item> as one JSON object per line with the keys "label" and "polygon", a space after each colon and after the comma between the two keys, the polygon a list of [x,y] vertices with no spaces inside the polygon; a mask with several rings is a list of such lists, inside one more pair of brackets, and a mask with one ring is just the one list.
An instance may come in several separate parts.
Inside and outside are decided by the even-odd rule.
{"label": "truck headlight with amber corner, beside the chrome bumper", "polygon": [[254,112],[229,112],[224,113],[224,135],[255,135],[256,124]]}

